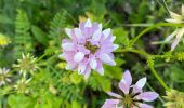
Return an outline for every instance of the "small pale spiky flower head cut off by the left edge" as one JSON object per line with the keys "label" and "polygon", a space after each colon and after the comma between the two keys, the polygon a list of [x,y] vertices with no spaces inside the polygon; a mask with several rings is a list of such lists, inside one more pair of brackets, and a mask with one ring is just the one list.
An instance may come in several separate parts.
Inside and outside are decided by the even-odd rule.
{"label": "small pale spiky flower head cut off by the left edge", "polygon": [[9,71],[9,69],[0,68],[0,86],[11,81]]}

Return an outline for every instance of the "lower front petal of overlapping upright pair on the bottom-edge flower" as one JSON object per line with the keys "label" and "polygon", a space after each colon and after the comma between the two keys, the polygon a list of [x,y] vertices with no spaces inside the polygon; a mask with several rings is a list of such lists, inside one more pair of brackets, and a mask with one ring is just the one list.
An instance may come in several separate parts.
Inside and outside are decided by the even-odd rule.
{"label": "lower front petal of overlapping upright pair on the bottom-edge flower", "polygon": [[127,95],[129,94],[130,85],[126,82],[126,80],[121,79],[119,82],[119,89]]}

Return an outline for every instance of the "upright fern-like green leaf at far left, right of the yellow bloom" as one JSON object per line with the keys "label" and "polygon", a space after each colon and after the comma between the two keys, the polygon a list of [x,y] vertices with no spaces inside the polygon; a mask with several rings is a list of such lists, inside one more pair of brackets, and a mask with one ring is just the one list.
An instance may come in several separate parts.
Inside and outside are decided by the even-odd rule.
{"label": "upright fern-like green leaf at far left, right of the yellow bloom", "polygon": [[15,54],[21,56],[22,52],[31,52],[32,39],[30,37],[30,23],[26,12],[17,10],[17,16],[15,21]]}

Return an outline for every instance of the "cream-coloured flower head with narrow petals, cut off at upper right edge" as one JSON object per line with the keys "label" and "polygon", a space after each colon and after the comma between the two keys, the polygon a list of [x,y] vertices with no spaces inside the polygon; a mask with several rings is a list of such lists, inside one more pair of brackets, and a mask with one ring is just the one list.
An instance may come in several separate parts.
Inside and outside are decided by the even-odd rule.
{"label": "cream-coloured flower head with narrow petals, cut off at upper right edge", "polygon": [[[181,8],[181,15],[170,11],[171,18],[167,18],[166,21],[172,24],[183,24],[184,23],[184,5]],[[184,27],[178,28],[174,32],[172,32],[170,36],[167,37],[166,42],[170,41],[175,37],[175,39],[172,42],[171,51],[175,49],[175,46],[181,41],[182,37],[184,35]]]}

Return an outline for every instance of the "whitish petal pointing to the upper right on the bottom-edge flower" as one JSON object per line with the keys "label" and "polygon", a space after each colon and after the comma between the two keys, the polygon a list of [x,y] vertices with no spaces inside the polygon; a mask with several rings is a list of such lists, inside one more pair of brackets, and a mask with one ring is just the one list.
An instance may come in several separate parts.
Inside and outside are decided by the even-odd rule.
{"label": "whitish petal pointing to the upper right on the bottom-edge flower", "polygon": [[135,85],[133,85],[133,93],[139,93],[139,92],[142,92],[142,89],[143,89],[143,86],[146,84],[146,77],[144,77],[144,78],[142,78],[142,79],[140,79],[136,83],[135,83]]}

